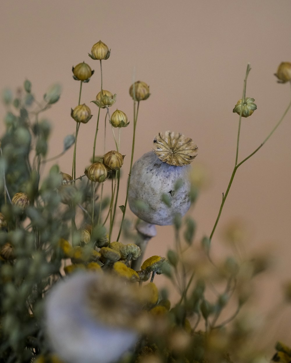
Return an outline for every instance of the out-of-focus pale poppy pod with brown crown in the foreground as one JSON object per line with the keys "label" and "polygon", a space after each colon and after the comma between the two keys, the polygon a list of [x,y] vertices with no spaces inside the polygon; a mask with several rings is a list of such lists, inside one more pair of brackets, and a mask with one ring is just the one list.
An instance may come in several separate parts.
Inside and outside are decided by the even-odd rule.
{"label": "out-of-focus pale poppy pod with brown crown in the foreground", "polygon": [[137,330],[125,324],[126,318],[117,319],[118,326],[112,324],[114,315],[137,314],[138,303],[132,311],[131,293],[123,280],[102,273],[76,273],[56,284],[45,305],[52,349],[69,363],[119,359],[138,338]]}

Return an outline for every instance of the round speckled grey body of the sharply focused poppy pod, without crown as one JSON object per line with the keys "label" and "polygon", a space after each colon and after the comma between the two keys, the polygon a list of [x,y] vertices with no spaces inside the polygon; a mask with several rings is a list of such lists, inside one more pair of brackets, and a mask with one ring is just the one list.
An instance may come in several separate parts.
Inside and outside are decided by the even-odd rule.
{"label": "round speckled grey body of the sharply focused poppy pod, without crown", "polygon": [[[158,225],[172,224],[177,213],[183,216],[190,208],[189,168],[190,165],[164,163],[152,151],[141,156],[131,171],[128,192],[131,211],[140,219]],[[183,185],[175,191],[179,179]],[[164,194],[170,198],[170,207],[162,200]]]}

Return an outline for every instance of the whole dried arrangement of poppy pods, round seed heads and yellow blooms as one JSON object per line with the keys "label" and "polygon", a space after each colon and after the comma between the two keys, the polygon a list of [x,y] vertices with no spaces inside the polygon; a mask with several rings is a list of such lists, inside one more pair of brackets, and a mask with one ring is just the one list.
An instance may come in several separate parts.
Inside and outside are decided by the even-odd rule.
{"label": "whole dried arrangement of poppy pods, round seed heads and yellow blooms", "polygon": [[[239,313],[250,296],[251,278],[267,262],[234,257],[214,261],[211,240],[236,170],[267,142],[291,102],[266,139],[239,162],[242,117],[256,110],[254,98],[246,97],[247,66],[243,97],[233,110],[239,115],[235,166],[212,232],[197,246],[195,221],[183,218],[198,195],[189,165],[198,152],[193,140],[173,131],[158,132],[152,151],[133,164],[140,102],[150,97],[147,83],[141,81],[129,88],[132,153],[126,198],[117,208],[124,160],[120,135],[129,122],[118,109],[110,115],[116,94],[104,90],[102,83],[102,61],[109,58],[109,48],[99,41],[89,56],[100,61],[101,90],[91,101],[98,115],[91,165],[83,176],[76,176],[76,145],[80,125],[92,119],[90,108],[80,102],[82,85],[94,73],[91,67],[83,62],[72,69],[80,81],[79,103],[71,110],[76,133],[65,138],[64,150],[56,156],[74,146],[71,174],[61,172],[57,164],[42,174],[51,126],[40,115],[59,100],[59,85],[50,87],[41,102],[28,80],[24,93],[3,93],[7,114],[0,144],[0,362],[263,362],[263,352],[245,348],[249,330]],[[291,63],[280,64],[276,77],[290,82]],[[104,150],[100,157],[95,148],[101,109],[116,150]],[[104,183],[111,183],[108,203]],[[139,218],[136,234],[125,223],[127,203]],[[119,217],[115,238],[113,225]],[[176,249],[166,257],[144,260],[155,225],[173,225]],[[179,294],[177,302],[169,301],[166,289],[157,289],[156,274],[170,279]],[[214,285],[216,293],[209,298]],[[288,300],[290,290],[286,286]],[[274,361],[291,361],[290,348],[277,343],[276,350]]]}

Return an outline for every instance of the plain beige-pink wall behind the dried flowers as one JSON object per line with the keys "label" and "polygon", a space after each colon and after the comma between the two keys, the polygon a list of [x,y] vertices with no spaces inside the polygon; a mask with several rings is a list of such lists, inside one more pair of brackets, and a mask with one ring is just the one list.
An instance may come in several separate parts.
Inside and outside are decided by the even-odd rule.
{"label": "plain beige-pink wall behind the dried flowers", "polygon": [[[133,79],[150,85],[151,96],[140,105],[135,159],[150,150],[158,131],[182,132],[199,147],[195,163],[206,168],[210,180],[192,213],[199,243],[213,227],[234,166],[238,116],[232,109],[242,95],[247,63],[252,66],[247,97],[255,98],[258,110],[243,120],[240,159],[259,146],[289,102],[289,85],[276,83],[273,74],[281,61],[291,61],[290,15],[289,0],[1,1],[0,87],[16,89],[28,78],[33,92],[42,96],[48,85],[61,83],[61,99],[47,112],[54,125],[49,156],[54,156],[62,150],[64,136],[75,133],[70,110],[77,105],[79,83],[72,78],[72,65],[85,61],[95,69],[81,97],[89,104],[100,90],[100,69],[87,53],[99,39],[104,41],[111,56],[103,62],[103,88],[117,94],[112,111],[118,107],[132,120],[129,86]],[[92,153],[97,108],[90,107],[94,116],[79,132],[77,174],[83,174]],[[274,270],[258,280],[263,311],[281,299],[281,282],[290,277],[290,120],[291,113],[238,170],[213,238],[215,258],[225,248],[223,226],[240,219],[249,236],[246,253],[271,252]],[[131,135],[132,123],[122,132],[124,175]],[[102,154],[103,147],[98,150]],[[71,158],[72,150],[60,160],[68,173]],[[158,233],[147,256],[165,254],[172,246],[170,227],[158,228]],[[290,312],[285,308],[269,324],[266,345],[276,339],[290,343]]]}

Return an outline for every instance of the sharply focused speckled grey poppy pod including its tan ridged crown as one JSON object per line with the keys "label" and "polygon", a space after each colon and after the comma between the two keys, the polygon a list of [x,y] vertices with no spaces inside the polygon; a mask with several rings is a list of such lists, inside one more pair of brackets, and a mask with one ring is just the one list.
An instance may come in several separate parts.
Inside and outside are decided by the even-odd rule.
{"label": "sharply focused speckled grey poppy pod including its tan ridged crown", "polygon": [[[197,146],[181,134],[167,131],[155,137],[154,141],[164,140],[165,153],[161,158],[175,160],[175,155],[189,145],[189,150],[184,155],[184,164],[191,162],[197,154]],[[167,140],[167,142],[165,141]],[[174,147],[175,140],[180,140],[180,148]],[[190,146],[191,145],[191,146]],[[169,150],[172,150],[170,153]],[[182,156],[177,154],[180,161]],[[176,155],[176,156],[177,156]],[[191,155],[191,158],[189,157]],[[168,160],[169,161],[169,160]],[[182,166],[180,166],[182,165]],[[171,165],[163,162],[152,151],[147,152],[135,162],[131,171],[128,191],[128,203],[131,211],[140,219],[150,224],[169,225],[173,223],[175,215],[183,216],[190,208],[190,165]]]}

